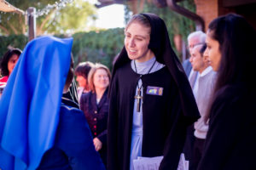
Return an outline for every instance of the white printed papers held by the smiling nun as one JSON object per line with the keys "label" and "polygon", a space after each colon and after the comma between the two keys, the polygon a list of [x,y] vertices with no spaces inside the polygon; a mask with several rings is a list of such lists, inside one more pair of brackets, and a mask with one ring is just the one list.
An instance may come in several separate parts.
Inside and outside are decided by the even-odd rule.
{"label": "white printed papers held by the smiling nun", "polygon": [[[141,157],[138,156],[136,160],[133,160],[134,170],[158,170],[160,162],[164,156],[155,157]],[[182,153],[178,162],[177,170],[189,170],[189,161],[185,160],[185,156]]]}

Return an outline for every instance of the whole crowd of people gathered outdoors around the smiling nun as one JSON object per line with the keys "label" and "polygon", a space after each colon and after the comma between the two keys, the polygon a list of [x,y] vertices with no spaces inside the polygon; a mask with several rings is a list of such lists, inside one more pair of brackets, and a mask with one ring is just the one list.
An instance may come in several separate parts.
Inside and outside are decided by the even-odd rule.
{"label": "whole crowd of people gathered outdoors around the smiling nun", "polygon": [[73,69],[72,38],[9,49],[0,169],[137,170],[139,157],[161,156],[158,169],[177,170],[181,154],[189,170],[256,169],[255,39],[240,15],[220,16],[189,34],[182,65],[164,20],[144,13],[125,26],[112,74]]}

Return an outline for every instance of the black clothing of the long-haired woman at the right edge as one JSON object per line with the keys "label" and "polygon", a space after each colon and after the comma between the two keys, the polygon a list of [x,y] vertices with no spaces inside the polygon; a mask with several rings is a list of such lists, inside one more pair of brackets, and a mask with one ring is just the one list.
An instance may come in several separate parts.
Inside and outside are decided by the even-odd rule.
{"label": "black clothing of the long-haired woman at the right edge", "polygon": [[221,88],[216,96],[198,170],[256,169],[255,91],[240,83]]}

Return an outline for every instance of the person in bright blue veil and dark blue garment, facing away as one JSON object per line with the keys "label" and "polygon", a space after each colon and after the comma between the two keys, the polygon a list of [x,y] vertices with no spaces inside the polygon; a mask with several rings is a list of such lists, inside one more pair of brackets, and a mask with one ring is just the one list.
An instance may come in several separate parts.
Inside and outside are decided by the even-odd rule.
{"label": "person in bright blue veil and dark blue garment, facing away", "polygon": [[0,99],[1,169],[105,169],[83,111],[62,97],[73,80],[72,44],[38,37],[26,45]]}

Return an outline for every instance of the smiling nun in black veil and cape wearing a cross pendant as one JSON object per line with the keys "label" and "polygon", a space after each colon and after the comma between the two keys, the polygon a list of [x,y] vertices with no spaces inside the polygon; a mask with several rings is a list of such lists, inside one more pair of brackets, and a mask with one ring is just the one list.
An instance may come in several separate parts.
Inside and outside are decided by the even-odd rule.
{"label": "smiling nun in black veil and cape wearing a cross pendant", "polygon": [[156,14],[129,20],[109,91],[108,169],[129,170],[138,156],[163,156],[159,169],[177,170],[186,129],[199,112]]}

